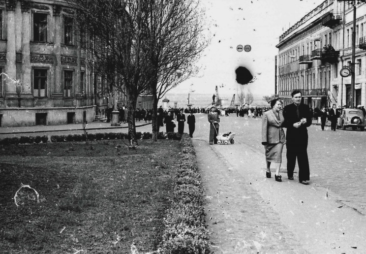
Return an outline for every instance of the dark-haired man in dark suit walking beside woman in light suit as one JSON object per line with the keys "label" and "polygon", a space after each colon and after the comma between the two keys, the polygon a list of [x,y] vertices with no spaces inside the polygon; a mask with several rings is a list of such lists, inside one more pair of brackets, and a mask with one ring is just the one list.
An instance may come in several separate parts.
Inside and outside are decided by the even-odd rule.
{"label": "dark-haired man in dark suit walking beside woman in light suit", "polygon": [[299,182],[308,185],[310,180],[309,160],[307,158],[307,128],[311,125],[309,106],[301,103],[302,93],[294,90],[291,93],[293,103],[283,109],[286,131],[287,177],[294,180],[296,158],[299,165]]}

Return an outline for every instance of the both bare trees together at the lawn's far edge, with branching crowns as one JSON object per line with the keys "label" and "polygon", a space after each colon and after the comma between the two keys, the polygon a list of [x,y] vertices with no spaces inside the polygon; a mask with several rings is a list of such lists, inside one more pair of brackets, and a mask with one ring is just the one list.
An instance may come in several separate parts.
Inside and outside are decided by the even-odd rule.
{"label": "both bare trees together at the lawn's far edge, with branching crowns", "polygon": [[[157,140],[157,104],[194,75],[208,45],[199,0],[68,0],[89,63],[111,87],[125,93],[128,139],[136,144],[133,112],[138,95],[153,95],[152,133]],[[82,44],[83,45],[83,44]]]}

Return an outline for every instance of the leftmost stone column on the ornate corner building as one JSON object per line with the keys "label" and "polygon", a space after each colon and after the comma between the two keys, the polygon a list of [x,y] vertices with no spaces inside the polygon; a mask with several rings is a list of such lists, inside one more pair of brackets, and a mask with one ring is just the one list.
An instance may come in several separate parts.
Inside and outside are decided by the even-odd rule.
{"label": "leftmost stone column on the ornate corner building", "polygon": [[[6,47],[6,74],[16,79],[16,53],[15,53],[15,2],[6,1],[6,17],[7,17],[7,47]],[[16,94],[15,82],[8,79],[5,84],[5,93]]]}

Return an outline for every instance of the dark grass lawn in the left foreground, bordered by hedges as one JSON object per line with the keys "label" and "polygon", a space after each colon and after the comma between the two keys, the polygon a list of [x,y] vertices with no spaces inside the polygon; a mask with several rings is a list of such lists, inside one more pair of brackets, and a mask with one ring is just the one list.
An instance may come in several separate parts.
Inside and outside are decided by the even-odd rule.
{"label": "dark grass lawn in the left foreground, bordered by hedges", "polygon": [[0,147],[0,252],[156,250],[179,153],[172,140]]}

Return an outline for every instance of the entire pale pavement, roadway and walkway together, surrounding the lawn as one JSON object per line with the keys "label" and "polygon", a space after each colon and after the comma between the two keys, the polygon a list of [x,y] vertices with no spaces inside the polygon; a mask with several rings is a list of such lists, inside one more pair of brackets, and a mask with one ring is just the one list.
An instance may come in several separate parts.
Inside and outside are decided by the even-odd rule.
{"label": "entire pale pavement, roadway and walkway together, surrounding the lawn", "polygon": [[[366,253],[366,132],[308,127],[310,185],[267,179],[261,118],[221,117],[233,145],[209,145],[207,115],[196,115],[193,143],[202,173],[207,221],[215,253]],[[144,121],[136,125],[143,125]],[[90,123],[88,132],[127,132]],[[81,125],[0,128],[7,136],[83,133]],[[165,129],[165,127],[164,127]],[[34,131],[44,132],[34,132]],[[151,131],[151,125],[136,131]],[[188,126],[185,126],[188,131]],[[28,132],[28,133],[25,133]],[[274,168],[272,170],[274,172]],[[274,177],[274,173],[273,173]]]}

